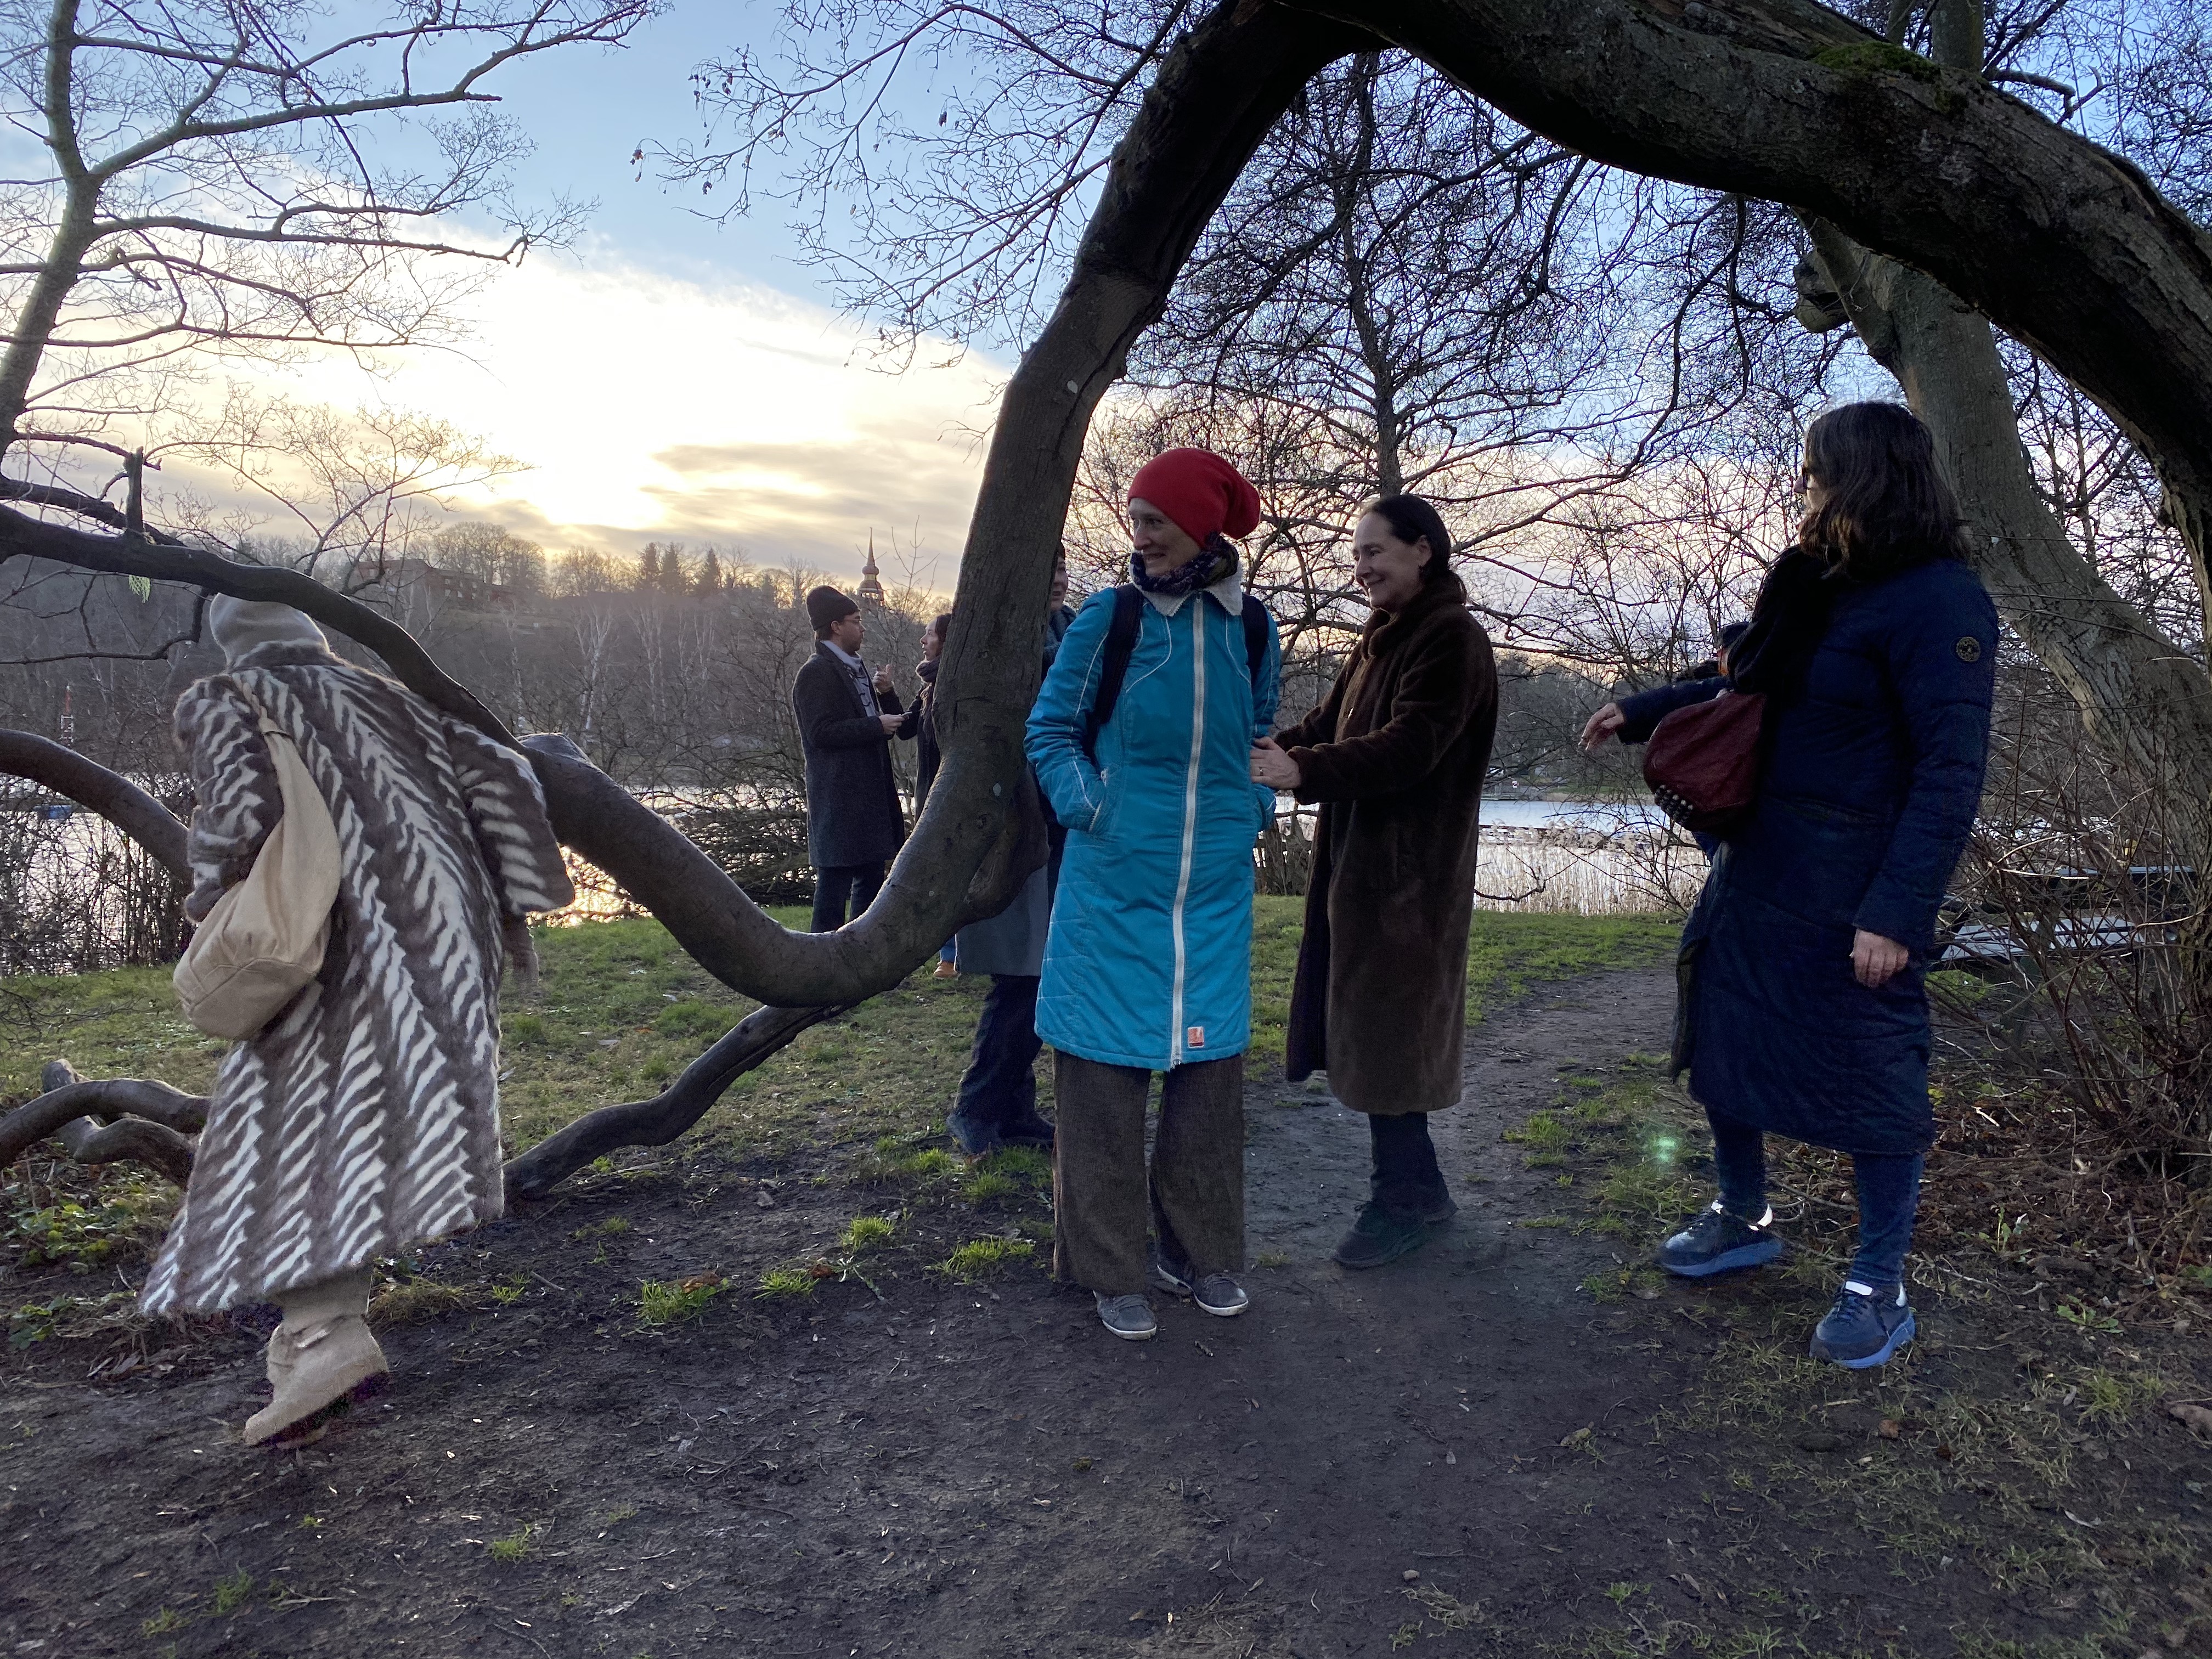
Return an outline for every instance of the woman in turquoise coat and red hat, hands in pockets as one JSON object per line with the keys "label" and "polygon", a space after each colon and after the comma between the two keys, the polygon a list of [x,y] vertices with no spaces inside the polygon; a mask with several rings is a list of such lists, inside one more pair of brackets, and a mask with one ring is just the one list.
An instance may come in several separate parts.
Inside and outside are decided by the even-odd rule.
{"label": "woman in turquoise coat and red hat, hands in pockets", "polygon": [[[1029,759],[1068,830],[1044,945],[1037,1035],[1055,1051],[1053,1267],[1115,1336],[1157,1329],[1146,1285],[1241,1314],[1243,1055],[1252,1040],[1252,843],[1274,796],[1250,776],[1274,726],[1281,646],[1230,535],[1259,493],[1203,449],[1130,482],[1130,577],[1060,641]],[[1119,695],[1117,604],[1135,608]],[[1144,1106],[1166,1073],[1150,1168]],[[1146,1234],[1155,1243],[1146,1252]]]}

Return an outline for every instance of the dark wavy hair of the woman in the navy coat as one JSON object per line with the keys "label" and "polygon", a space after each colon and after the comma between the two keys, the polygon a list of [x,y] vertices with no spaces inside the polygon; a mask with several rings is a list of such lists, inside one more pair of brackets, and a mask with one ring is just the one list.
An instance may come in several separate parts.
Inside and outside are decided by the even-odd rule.
{"label": "dark wavy hair of the woman in the navy coat", "polygon": [[1966,515],[1936,465],[1936,440],[1898,403],[1847,403],[1805,429],[1805,476],[1827,500],[1798,546],[1860,582],[1966,555]]}

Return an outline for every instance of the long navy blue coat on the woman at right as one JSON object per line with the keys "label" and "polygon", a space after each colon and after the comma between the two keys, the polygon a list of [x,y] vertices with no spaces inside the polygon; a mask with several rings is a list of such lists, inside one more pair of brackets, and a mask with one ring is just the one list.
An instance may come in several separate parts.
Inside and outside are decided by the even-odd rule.
{"label": "long navy blue coat on the woman at right", "polygon": [[[1982,799],[1995,648],[1958,560],[1838,595],[1683,929],[1674,1062],[1701,1104],[1840,1152],[1933,1141],[1922,975]],[[1911,951],[1878,991],[1856,929]]]}

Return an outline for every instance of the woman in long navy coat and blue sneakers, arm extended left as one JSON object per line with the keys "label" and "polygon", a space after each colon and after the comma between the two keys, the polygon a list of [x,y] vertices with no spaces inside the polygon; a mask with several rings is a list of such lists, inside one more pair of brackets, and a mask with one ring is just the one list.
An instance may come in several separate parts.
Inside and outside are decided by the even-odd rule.
{"label": "woman in long navy coat and blue sneakers, arm extended left", "polygon": [[[1927,427],[1856,403],[1805,434],[1805,526],[1759,595],[1721,690],[1767,695],[1765,768],[1681,936],[1674,1066],[1712,1119],[1721,1197],[1666,1241],[1701,1279],[1783,1252],[1767,1133],[1851,1155],[1858,1252],[1816,1358],[1882,1365],[1936,1139],[1922,973],[1982,799],[1997,615]],[[1595,745],[1624,730],[1599,710]]]}

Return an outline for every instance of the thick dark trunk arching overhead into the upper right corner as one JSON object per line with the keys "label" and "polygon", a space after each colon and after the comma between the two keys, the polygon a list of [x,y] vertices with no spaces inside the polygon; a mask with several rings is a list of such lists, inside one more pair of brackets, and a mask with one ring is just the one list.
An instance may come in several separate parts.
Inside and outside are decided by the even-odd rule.
{"label": "thick dark trunk arching overhead into the upper right corner", "polygon": [[1938,276],[2212,522],[2212,237],[2126,159],[1812,0],[1294,0],[1584,155],[1787,201]]}

